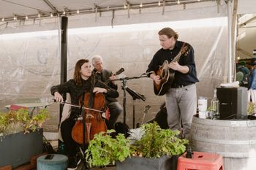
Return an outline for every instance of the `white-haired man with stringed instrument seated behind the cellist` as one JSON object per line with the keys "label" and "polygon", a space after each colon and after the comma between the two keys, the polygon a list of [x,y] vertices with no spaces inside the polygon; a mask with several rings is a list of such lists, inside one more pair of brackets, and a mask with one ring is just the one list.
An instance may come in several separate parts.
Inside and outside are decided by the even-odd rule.
{"label": "white-haired man with stringed instrument seated behind the cellist", "polygon": [[[116,72],[116,74],[113,74],[111,71],[107,69],[103,69],[103,60],[100,55],[94,55],[91,62],[94,66],[93,74],[95,75],[95,78],[97,80],[105,82],[105,84],[108,85],[110,88],[117,90],[118,87],[113,80],[116,79],[116,74],[124,72],[124,69],[120,69],[120,72],[118,71]],[[118,103],[116,98],[107,97],[106,104],[110,109],[110,118],[107,123],[107,126],[108,129],[113,129],[114,124],[118,119],[118,116],[121,114],[121,112],[123,112],[123,107],[121,107],[121,104]]]}

